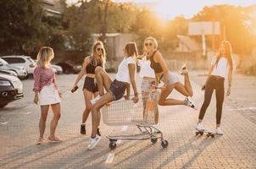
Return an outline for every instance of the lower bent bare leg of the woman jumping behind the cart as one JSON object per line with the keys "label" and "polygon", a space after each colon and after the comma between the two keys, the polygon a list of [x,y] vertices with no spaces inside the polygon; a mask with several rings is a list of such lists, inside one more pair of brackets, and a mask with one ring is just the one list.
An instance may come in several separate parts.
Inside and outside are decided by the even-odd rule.
{"label": "lower bent bare leg of the woman jumping behind the cart", "polygon": [[170,95],[171,91],[175,88],[175,85],[167,85],[165,89],[162,90],[159,105],[161,106],[171,106],[171,105],[186,105],[185,101],[179,101],[175,99],[166,99]]}

